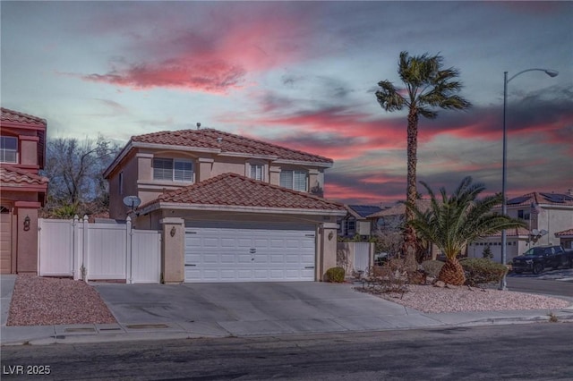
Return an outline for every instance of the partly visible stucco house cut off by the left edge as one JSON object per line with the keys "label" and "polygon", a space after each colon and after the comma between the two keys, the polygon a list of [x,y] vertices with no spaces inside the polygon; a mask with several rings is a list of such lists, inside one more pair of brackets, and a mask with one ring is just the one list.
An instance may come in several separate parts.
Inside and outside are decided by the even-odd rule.
{"label": "partly visible stucco house cut off by the left edge", "polygon": [[38,271],[38,209],[46,202],[46,120],[1,109],[0,272]]}

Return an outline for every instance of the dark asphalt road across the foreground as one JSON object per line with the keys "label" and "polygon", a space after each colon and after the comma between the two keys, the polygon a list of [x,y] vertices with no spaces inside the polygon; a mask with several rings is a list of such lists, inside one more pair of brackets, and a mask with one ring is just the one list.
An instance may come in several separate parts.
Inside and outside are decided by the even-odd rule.
{"label": "dark asphalt road across the foreground", "polygon": [[[3,347],[2,379],[571,379],[571,328],[567,323],[538,323]],[[48,367],[50,374],[13,374],[15,369],[33,372],[40,367]]]}

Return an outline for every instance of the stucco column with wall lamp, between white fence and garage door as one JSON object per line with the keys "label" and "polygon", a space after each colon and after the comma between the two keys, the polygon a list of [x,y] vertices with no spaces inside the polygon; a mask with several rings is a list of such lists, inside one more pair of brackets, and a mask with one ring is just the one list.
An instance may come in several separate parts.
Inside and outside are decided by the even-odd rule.
{"label": "stucco column with wall lamp, between white fence and garage door", "polygon": [[184,282],[185,221],[183,218],[167,217],[161,233],[161,274],[166,284]]}

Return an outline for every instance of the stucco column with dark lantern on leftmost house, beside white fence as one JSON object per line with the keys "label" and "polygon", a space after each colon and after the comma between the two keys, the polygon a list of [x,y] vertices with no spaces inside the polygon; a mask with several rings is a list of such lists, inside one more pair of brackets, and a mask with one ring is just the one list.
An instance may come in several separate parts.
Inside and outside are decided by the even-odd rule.
{"label": "stucco column with dark lantern on leftmost house, beside white fence", "polygon": [[[36,205],[38,204],[38,206]],[[38,207],[39,203],[20,201],[16,208],[16,272],[38,274]],[[14,232],[15,233],[15,232]]]}

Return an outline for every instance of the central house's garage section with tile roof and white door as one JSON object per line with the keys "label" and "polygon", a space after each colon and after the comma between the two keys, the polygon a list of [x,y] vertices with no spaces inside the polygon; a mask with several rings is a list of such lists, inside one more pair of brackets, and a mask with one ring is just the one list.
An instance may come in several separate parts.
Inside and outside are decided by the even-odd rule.
{"label": "central house's garage section with tile roof and white door", "polygon": [[134,219],[164,231],[166,283],[279,282],[321,280],[336,266],[336,220],[345,214],[308,193],[221,174],[160,195]]}

